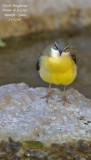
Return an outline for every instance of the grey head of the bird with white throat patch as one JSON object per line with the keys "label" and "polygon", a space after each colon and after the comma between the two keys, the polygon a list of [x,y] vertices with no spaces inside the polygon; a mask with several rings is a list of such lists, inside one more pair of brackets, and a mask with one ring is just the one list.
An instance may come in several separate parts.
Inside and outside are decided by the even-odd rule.
{"label": "grey head of the bird with white throat patch", "polygon": [[57,42],[55,42],[51,47],[51,56],[52,57],[59,57],[61,55],[65,56],[69,54],[69,47],[66,46],[64,49],[61,47],[61,45],[58,45]]}

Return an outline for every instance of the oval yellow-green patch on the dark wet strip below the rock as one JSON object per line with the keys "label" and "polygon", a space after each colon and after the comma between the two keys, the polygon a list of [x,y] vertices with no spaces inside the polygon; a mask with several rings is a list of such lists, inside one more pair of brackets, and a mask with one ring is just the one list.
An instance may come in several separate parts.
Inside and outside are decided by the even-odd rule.
{"label": "oval yellow-green patch on the dark wet strip below the rock", "polygon": [[22,145],[31,149],[41,149],[43,144],[39,141],[24,141]]}

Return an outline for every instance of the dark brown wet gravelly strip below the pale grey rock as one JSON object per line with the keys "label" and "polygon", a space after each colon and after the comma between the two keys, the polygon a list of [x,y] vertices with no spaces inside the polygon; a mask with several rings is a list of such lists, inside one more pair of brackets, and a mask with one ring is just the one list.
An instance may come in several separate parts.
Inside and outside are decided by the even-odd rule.
{"label": "dark brown wet gravelly strip below the pale grey rock", "polygon": [[90,160],[91,141],[79,140],[63,144],[53,143],[50,147],[47,147],[36,141],[20,143],[9,138],[8,141],[0,142],[0,159]]}

